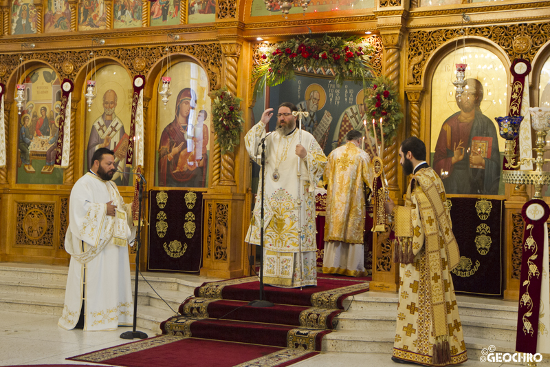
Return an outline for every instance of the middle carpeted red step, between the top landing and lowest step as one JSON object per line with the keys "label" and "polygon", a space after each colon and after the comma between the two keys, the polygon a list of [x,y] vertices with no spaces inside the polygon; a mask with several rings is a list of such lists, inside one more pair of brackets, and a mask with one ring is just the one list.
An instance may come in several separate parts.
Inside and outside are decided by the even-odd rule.
{"label": "middle carpeted red step, between the top landing and lowest step", "polygon": [[265,322],[305,328],[336,328],[334,318],[342,310],[275,304],[273,307],[252,307],[248,302],[192,298],[179,306],[185,317],[229,319],[244,322]]}

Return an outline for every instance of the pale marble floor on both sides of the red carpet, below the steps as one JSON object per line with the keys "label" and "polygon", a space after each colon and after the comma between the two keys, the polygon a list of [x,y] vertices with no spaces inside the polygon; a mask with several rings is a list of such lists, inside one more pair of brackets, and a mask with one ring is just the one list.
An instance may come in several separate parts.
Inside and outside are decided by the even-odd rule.
{"label": "pale marble floor on both sides of the red carpet, below the steps", "polygon": [[[120,339],[120,333],[131,330],[131,328],[119,328],[118,331],[66,331],[57,326],[57,320],[58,317],[52,315],[0,311],[0,366],[14,364],[85,364],[67,361],[65,358],[124,344],[128,341]],[[149,337],[158,333],[158,331],[141,328],[139,330],[147,333]],[[389,355],[382,353],[322,353],[292,366],[397,367],[402,365],[395,364],[391,361]],[[500,367],[517,365],[470,360],[462,366]]]}

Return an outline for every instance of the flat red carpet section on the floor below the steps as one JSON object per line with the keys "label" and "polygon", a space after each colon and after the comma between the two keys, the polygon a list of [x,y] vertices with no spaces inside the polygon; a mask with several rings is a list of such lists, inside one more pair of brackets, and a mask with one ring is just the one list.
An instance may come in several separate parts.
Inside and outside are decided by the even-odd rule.
{"label": "flat red carpet section on the floor below the steps", "polygon": [[[68,358],[125,367],[284,367],[317,352],[161,335]],[[65,365],[66,366],[66,365]]]}

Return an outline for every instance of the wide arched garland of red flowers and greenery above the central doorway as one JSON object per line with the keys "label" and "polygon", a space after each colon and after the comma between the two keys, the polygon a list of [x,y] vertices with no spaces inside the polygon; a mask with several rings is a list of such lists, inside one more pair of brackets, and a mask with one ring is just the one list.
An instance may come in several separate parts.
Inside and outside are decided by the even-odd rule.
{"label": "wide arched garland of red flowers and greenery above the central doorway", "polygon": [[339,87],[346,79],[365,83],[372,75],[370,61],[375,50],[370,43],[358,43],[361,40],[325,34],[321,39],[299,36],[276,43],[261,55],[261,66],[254,73],[259,79],[256,92],[261,92],[265,83],[272,87],[294,79],[294,70],[298,67],[331,70]]}

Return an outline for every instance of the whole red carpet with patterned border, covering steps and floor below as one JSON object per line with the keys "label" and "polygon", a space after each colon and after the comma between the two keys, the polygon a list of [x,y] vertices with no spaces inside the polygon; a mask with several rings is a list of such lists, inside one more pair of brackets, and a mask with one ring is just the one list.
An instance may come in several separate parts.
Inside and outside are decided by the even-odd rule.
{"label": "whole red carpet with patterned border, covering steps and floor below", "polygon": [[69,359],[125,367],[284,367],[313,357],[336,328],[349,295],[369,291],[351,277],[318,277],[317,286],[265,286],[273,307],[256,308],[257,277],[207,282],[179,306],[179,316],[160,324],[159,337]]}

